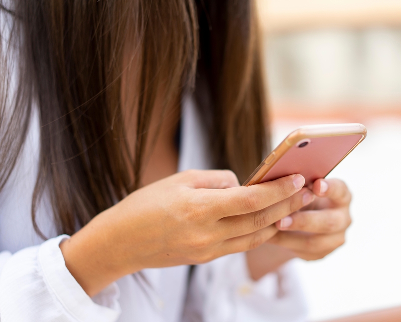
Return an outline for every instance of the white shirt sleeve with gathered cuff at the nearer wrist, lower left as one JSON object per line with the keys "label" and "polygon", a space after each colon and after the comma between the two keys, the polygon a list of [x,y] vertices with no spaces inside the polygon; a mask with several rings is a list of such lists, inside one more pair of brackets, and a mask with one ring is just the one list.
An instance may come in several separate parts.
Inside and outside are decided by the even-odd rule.
{"label": "white shirt sleeve with gathered cuff at the nearer wrist, lower left", "polygon": [[2,322],[114,322],[120,315],[119,289],[112,283],[90,298],[68,271],[59,244],[67,235],[0,253]]}

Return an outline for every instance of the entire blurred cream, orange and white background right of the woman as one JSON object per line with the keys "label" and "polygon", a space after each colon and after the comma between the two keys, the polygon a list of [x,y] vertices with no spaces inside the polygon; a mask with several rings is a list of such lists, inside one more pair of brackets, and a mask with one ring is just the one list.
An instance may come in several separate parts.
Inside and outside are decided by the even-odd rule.
{"label": "entire blurred cream, orange and white background right of the woman", "polygon": [[401,305],[401,0],[258,0],[276,146],[300,125],[358,122],[344,246],[299,274],[319,321]]}

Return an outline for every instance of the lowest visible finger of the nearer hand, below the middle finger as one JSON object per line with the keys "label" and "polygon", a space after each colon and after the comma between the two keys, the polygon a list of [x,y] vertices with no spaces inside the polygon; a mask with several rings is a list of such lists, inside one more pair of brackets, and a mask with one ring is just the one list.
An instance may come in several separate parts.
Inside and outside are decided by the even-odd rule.
{"label": "lowest visible finger of the nearer hand, below the middle finger", "polygon": [[245,236],[234,237],[223,242],[221,256],[254,249],[265,243],[277,233],[277,228],[272,225],[255,231]]}

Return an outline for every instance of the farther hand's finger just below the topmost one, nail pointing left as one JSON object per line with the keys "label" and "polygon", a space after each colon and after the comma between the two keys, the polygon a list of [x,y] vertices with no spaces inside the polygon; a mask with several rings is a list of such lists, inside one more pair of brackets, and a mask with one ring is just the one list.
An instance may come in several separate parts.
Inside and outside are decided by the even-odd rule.
{"label": "farther hand's finger just below the topmost one, nail pointing left", "polygon": [[295,212],[276,222],[279,230],[332,234],[344,231],[351,224],[348,208]]}

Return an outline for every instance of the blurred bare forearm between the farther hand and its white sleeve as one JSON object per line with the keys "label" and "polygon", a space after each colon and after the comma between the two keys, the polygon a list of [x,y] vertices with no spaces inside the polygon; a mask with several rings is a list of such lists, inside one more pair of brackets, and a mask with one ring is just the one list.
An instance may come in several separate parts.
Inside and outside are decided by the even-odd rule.
{"label": "blurred bare forearm between the farther hand and its white sleeve", "polygon": [[276,271],[294,257],[295,254],[288,249],[265,243],[256,249],[247,251],[250,275],[254,280],[258,280],[267,273]]}

